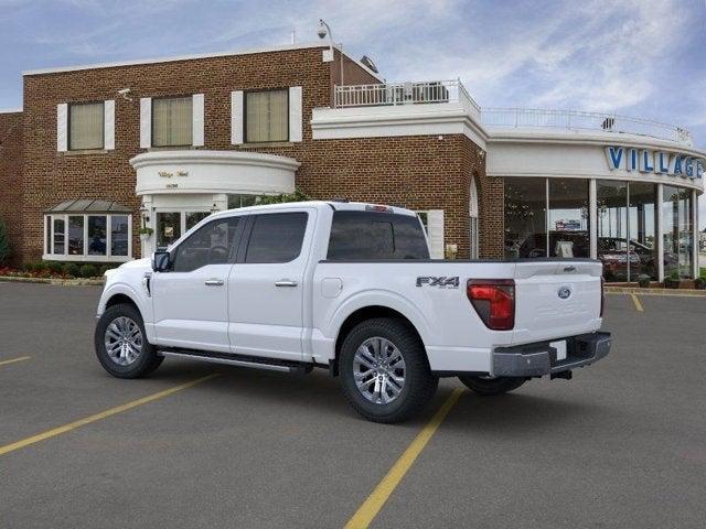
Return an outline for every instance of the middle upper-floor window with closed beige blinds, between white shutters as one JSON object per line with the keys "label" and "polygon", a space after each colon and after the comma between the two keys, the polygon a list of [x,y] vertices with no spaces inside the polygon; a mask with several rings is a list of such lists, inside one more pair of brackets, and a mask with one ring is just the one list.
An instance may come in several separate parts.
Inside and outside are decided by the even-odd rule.
{"label": "middle upper-floor window with closed beige blinds, between white shutters", "polygon": [[193,98],[152,100],[152,147],[186,147],[193,143]]}

